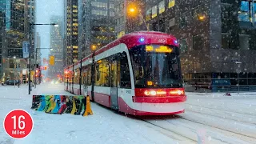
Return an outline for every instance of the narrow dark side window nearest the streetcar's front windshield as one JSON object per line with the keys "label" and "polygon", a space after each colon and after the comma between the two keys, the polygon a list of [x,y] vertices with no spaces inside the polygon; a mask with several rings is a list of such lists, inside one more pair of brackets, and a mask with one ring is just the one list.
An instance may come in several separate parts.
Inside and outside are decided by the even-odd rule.
{"label": "narrow dark side window nearest the streetcar's front windshield", "polygon": [[120,63],[121,63],[121,70],[120,70],[121,82],[120,82],[120,87],[131,88],[130,69],[129,69],[127,54],[125,52],[122,53],[121,56],[120,56]]}

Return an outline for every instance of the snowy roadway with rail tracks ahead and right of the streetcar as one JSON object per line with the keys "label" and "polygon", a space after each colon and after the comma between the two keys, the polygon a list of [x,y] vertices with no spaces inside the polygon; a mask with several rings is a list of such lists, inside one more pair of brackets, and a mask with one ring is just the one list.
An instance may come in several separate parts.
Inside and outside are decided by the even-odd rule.
{"label": "snowy roadway with rail tracks ahead and right of the streetcar", "polygon": [[256,94],[187,93],[185,114],[142,118],[202,143],[256,143]]}

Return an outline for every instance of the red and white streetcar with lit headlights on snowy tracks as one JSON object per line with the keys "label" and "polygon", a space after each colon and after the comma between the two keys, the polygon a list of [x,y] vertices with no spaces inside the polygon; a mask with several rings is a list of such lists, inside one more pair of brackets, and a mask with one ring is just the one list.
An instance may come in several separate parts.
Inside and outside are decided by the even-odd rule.
{"label": "red and white streetcar with lit headlights on snowy tracks", "polygon": [[65,89],[134,115],[184,112],[178,41],[170,34],[134,32],[65,68]]}

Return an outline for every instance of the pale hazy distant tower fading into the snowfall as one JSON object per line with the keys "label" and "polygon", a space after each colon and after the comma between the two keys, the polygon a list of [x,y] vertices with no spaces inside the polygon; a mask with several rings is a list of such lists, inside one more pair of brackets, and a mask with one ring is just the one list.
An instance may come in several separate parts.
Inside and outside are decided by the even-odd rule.
{"label": "pale hazy distant tower fading into the snowfall", "polygon": [[60,16],[52,16],[50,23],[58,24],[58,26],[50,27],[50,56],[54,56],[54,66],[48,66],[48,77],[57,78],[58,75],[63,74],[63,18]]}

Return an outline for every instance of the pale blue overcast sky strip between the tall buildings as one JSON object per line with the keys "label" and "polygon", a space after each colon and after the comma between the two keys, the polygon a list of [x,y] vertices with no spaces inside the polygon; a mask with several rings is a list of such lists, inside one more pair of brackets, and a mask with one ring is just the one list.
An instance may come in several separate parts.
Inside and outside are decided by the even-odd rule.
{"label": "pale blue overcast sky strip between the tall buildings", "polygon": [[[52,15],[63,18],[64,1],[66,0],[35,0],[35,23],[50,23]],[[36,26],[36,31],[41,37],[41,48],[50,48],[50,26]],[[49,50],[41,50],[42,57],[47,58]]]}

